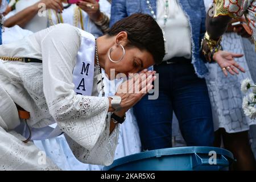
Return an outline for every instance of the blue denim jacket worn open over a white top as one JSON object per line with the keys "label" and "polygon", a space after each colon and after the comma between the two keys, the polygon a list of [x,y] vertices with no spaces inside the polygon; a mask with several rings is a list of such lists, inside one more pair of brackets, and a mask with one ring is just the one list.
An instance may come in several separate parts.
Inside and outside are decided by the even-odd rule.
{"label": "blue denim jacket worn open over a white top", "polygon": [[[152,15],[146,3],[147,0],[113,0],[111,9],[110,26],[118,20],[134,13]],[[148,0],[156,14],[156,0]],[[205,33],[205,6],[203,0],[177,0],[189,20],[192,40],[192,64],[197,76],[204,77],[208,72],[201,56],[201,39]],[[180,35],[182,36],[182,35]]]}

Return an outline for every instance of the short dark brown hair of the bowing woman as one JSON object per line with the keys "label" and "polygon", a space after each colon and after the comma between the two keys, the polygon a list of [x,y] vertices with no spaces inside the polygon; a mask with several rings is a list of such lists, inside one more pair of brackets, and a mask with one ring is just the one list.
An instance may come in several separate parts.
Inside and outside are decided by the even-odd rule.
{"label": "short dark brown hair of the bowing woman", "polygon": [[146,49],[152,54],[156,64],[162,62],[165,54],[163,32],[154,18],[135,13],[116,22],[108,35],[114,36],[121,31],[127,32],[129,46]]}

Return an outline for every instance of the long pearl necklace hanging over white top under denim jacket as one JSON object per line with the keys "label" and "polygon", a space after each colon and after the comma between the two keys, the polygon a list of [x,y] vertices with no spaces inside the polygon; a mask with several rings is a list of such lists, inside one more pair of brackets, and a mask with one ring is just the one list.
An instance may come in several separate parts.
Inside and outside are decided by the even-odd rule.
{"label": "long pearl necklace hanging over white top under denim jacket", "polygon": [[[149,0],[146,1],[147,2],[147,6],[150,9],[150,13],[152,14],[153,18],[156,20],[156,15],[155,15],[155,11],[153,10],[151,3]],[[169,1],[166,0],[165,4],[164,4],[164,25],[163,27],[160,27],[162,29],[163,32],[163,38],[164,38],[164,46],[166,49],[166,54],[168,53],[168,45],[167,45],[167,41],[166,41],[166,37],[165,37],[165,32],[164,32],[164,28],[166,27],[166,23],[168,20],[168,14],[169,14]]]}

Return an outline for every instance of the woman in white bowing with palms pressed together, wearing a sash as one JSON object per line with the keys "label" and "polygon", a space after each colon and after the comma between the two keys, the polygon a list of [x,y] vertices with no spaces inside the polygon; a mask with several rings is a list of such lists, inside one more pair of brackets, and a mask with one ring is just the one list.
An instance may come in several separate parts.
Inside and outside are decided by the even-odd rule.
{"label": "woman in white bowing with palms pressed together, wearing a sash", "polygon": [[[130,26],[134,23],[136,28]],[[5,141],[0,144],[0,169],[58,169],[48,158],[40,163],[40,151],[29,140],[61,133],[78,160],[109,165],[117,123],[152,89],[155,72],[145,68],[162,61],[164,40],[151,16],[134,14],[98,39],[58,24],[1,46],[0,57],[0,136]],[[115,75],[141,72],[147,77],[136,77],[139,93],[120,92],[135,84],[131,78],[115,97],[98,97],[100,92],[104,96],[101,68],[109,77],[110,68]],[[49,130],[55,122],[59,129]]]}

